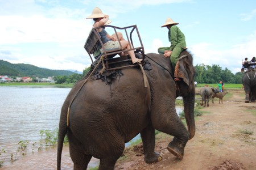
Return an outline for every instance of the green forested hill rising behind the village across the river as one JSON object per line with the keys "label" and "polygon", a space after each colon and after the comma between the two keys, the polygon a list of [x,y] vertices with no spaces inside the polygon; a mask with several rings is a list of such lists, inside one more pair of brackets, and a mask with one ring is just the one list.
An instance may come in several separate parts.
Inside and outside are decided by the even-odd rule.
{"label": "green forested hill rising behind the village across the river", "polygon": [[74,73],[76,72],[69,70],[43,69],[24,63],[13,64],[0,59],[0,75],[35,76],[39,78],[47,78],[48,76],[72,75]]}

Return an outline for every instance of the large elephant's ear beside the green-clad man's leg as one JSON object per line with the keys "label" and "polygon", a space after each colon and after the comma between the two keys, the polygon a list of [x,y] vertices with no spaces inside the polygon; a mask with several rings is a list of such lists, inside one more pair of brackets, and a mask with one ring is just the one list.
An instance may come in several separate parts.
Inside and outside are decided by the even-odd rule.
{"label": "large elephant's ear beside the green-clad man's leg", "polygon": [[194,83],[194,74],[195,69],[193,67],[192,56],[181,56],[176,63],[174,77],[182,78],[188,87],[191,87],[191,83]]}

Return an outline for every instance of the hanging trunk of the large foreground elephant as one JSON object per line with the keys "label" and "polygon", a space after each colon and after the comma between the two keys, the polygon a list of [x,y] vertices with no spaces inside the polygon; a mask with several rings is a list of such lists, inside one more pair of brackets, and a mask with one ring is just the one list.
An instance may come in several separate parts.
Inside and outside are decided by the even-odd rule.
{"label": "hanging trunk of the large foreground elephant", "polygon": [[194,117],[195,108],[195,88],[187,96],[183,97],[185,120],[188,126],[189,139],[192,139],[196,133],[196,124]]}

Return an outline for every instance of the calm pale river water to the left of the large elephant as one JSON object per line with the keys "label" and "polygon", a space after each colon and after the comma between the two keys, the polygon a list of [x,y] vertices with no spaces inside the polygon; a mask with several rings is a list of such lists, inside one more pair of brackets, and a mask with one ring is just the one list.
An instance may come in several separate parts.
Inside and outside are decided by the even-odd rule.
{"label": "calm pale river water to the left of the large elephant", "polygon": [[[53,131],[59,127],[60,110],[70,90],[46,86],[0,86],[1,170],[56,169],[57,149],[39,149],[40,130]],[[181,112],[180,108],[176,109]],[[20,141],[22,143],[18,144]],[[26,151],[17,152],[23,143]],[[62,169],[73,169],[67,146],[61,164]],[[89,167],[97,165],[98,159],[93,158]]]}

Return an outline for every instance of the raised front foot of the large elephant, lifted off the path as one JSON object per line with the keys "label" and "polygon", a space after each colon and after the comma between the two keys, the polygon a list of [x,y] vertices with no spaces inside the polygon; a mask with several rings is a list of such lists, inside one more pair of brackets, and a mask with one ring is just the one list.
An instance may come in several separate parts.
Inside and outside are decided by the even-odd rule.
{"label": "raised front foot of the large elephant, lifted off the path", "polygon": [[184,155],[184,145],[177,143],[177,140],[174,138],[172,142],[167,146],[167,150],[174,154],[177,158],[182,159]]}

